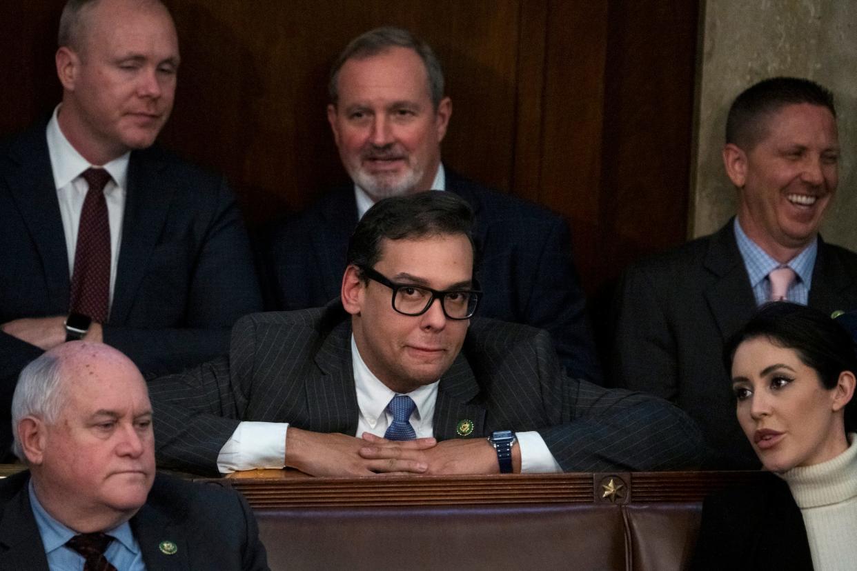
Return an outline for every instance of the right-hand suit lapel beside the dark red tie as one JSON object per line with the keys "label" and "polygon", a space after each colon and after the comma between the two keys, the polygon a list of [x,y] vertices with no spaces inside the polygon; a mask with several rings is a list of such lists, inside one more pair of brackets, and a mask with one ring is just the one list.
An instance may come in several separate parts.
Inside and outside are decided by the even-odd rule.
{"label": "right-hand suit lapel beside the dark red tie", "polygon": [[131,153],[111,324],[123,324],[128,318],[175,192],[170,184],[164,184],[160,171],[165,165],[158,160],[157,152],[148,149]]}

